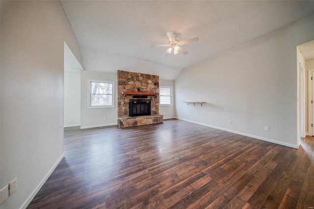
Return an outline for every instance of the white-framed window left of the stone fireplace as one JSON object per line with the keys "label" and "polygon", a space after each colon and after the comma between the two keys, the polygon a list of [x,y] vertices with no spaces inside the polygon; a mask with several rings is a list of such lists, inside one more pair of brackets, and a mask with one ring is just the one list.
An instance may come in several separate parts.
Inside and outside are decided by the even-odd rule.
{"label": "white-framed window left of the stone fireplace", "polygon": [[89,108],[114,107],[114,82],[89,80]]}

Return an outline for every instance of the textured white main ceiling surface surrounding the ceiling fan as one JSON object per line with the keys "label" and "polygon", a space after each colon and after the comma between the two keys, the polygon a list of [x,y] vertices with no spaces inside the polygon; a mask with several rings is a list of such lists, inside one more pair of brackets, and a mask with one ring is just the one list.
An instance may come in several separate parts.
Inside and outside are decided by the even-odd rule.
{"label": "textured white main ceiling surface surrounding the ceiling fan", "polygon": [[[91,1],[61,0],[82,51],[99,51],[174,68],[186,68],[216,53],[258,38],[314,11],[314,1]],[[178,40],[199,37],[183,45],[187,55],[161,57],[166,32]],[[90,66],[94,53],[83,53],[85,70],[118,70],[114,63]],[[101,61],[95,63],[104,65]],[[144,69],[145,70],[145,69]],[[145,73],[145,72],[143,72]]]}

